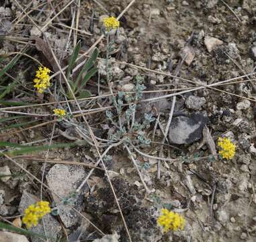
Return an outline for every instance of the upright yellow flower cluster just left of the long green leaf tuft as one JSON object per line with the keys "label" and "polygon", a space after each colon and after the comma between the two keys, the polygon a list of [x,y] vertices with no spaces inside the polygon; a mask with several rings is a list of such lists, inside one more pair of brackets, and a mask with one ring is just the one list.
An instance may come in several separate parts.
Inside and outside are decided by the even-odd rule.
{"label": "upright yellow flower cluster just left of the long green leaf tuft", "polygon": [[44,89],[50,87],[50,69],[47,67],[39,67],[36,71],[36,78],[34,79],[34,87],[36,87],[38,93],[42,93]]}

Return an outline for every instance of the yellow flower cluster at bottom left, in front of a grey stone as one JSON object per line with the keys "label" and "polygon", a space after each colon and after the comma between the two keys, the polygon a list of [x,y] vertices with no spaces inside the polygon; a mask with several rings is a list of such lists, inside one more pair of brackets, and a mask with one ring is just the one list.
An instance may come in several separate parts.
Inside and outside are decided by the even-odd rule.
{"label": "yellow flower cluster at bottom left, in front of a grey stone", "polygon": [[50,212],[51,208],[49,207],[49,202],[36,202],[36,204],[31,204],[26,208],[24,212],[25,215],[22,218],[22,223],[24,223],[27,228],[32,227],[32,225],[36,226],[38,224],[38,220]]}

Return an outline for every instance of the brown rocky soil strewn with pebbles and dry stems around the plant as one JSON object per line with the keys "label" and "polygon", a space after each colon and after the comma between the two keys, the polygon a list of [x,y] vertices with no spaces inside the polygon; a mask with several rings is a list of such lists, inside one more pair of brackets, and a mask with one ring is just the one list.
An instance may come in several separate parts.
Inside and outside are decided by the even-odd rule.
{"label": "brown rocky soil strewn with pebbles and dry stems around the plant", "polygon": [[[59,69],[40,40],[45,43],[47,39],[64,67],[75,39],[82,40],[80,54],[83,54],[102,34],[104,16],[118,16],[129,2],[81,1],[77,24],[81,31],[74,34],[75,31],[63,26],[71,26],[78,15],[77,5],[71,1],[0,0],[1,54],[26,50],[56,73]],[[68,3],[71,4],[49,22]],[[35,24],[45,26],[43,36]],[[51,149],[47,152],[51,163],[42,163],[46,151],[13,156],[11,159],[19,166],[1,155],[1,221],[20,226],[20,214],[40,199],[40,181],[44,174],[47,187],[42,188],[42,196],[59,208],[59,214],[45,216],[44,224],[32,228],[36,233],[68,237],[68,241],[129,241],[114,189],[132,241],[255,241],[256,81],[252,73],[256,70],[256,1],[134,1],[121,17],[120,25],[118,34],[112,36],[115,40],[110,58],[113,91],[132,91],[139,75],[144,77],[145,91],[155,91],[143,93],[141,100],[150,100],[141,102],[135,115],[138,122],[146,112],[155,116],[156,120],[144,130],[152,143],[129,147],[150,194],[146,193],[123,145],[110,149],[111,159],[104,159],[111,171],[108,174],[113,188],[102,165],[80,186],[92,169],[86,165],[95,165],[98,160],[98,153],[90,144]],[[106,40],[97,46],[99,57],[105,58]],[[0,120],[20,115],[13,112],[14,109],[3,112],[8,105],[1,101],[47,104],[15,111],[51,114],[55,107],[53,97],[37,95],[34,91],[32,80],[37,65],[22,56],[7,72],[9,79],[3,83],[13,77],[20,84],[0,98]],[[104,82],[105,60],[98,60],[97,65],[98,75],[86,88],[94,96],[109,94]],[[55,83],[58,81],[56,77]],[[0,85],[3,83],[0,79]],[[53,85],[51,91],[57,87]],[[175,98],[163,97],[177,92],[180,93]],[[156,97],[159,99],[153,102]],[[100,97],[97,101],[79,103],[82,109],[102,109],[86,118],[94,134],[106,140],[113,132],[104,110],[112,105],[110,99]],[[168,128],[172,106],[174,112]],[[71,109],[79,113],[75,104],[71,104]],[[33,120],[36,123],[29,123]],[[38,145],[49,145],[51,136],[53,143],[75,143],[83,139],[75,125],[65,122],[56,122],[54,128],[50,122],[40,128],[28,128],[49,120],[53,118],[26,116],[22,121],[0,122],[0,141],[20,145],[33,145],[38,141]],[[20,122],[27,123],[6,129]],[[76,118],[75,124],[86,128],[82,118]],[[162,130],[166,126],[168,143],[162,146],[165,142]],[[236,145],[232,160],[214,158],[220,136],[230,138]],[[1,145],[1,153],[7,149]],[[99,150],[104,153],[106,147]],[[159,157],[168,158],[159,161]],[[67,165],[63,161],[79,164]],[[162,207],[183,214],[186,220],[183,231],[162,233],[156,225]],[[7,238],[2,241],[42,241],[0,231],[0,241],[2,237]]]}

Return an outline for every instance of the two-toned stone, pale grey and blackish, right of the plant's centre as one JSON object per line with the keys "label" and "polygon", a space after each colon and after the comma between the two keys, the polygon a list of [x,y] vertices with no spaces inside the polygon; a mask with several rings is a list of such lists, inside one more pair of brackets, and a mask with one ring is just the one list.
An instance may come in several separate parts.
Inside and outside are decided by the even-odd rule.
{"label": "two-toned stone, pale grey and blackish, right of the plant's centre", "polygon": [[172,144],[191,144],[202,137],[203,127],[208,118],[203,114],[192,114],[190,117],[178,116],[170,124],[169,140]]}

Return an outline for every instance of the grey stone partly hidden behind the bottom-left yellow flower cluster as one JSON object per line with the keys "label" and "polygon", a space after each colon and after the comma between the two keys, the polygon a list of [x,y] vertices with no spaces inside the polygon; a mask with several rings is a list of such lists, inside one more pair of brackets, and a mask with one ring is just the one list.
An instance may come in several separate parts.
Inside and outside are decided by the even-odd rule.
{"label": "grey stone partly hidden behind the bottom-left yellow flower cluster", "polygon": [[[20,204],[18,211],[20,214],[24,214],[24,210],[30,206],[30,204],[34,204],[35,202],[38,202],[39,198],[36,198],[36,196],[24,191],[22,194],[22,198],[20,199]],[[42,222],[38,223],[36,227],[32,227],[29,229],[29,231],[32,231],[34,233],[38,233],[40,235],[44,235],[44,227],[47,231],[47,235],[49,237],[57,238],[61,233],[61,225],[59,222],[51,216],[51,214],[46,214],[43,217],[44,220],[44,226]],[[31,240],[33,242],[41,242],[42,239],[39,239],[37,237],[31,237]]]}

